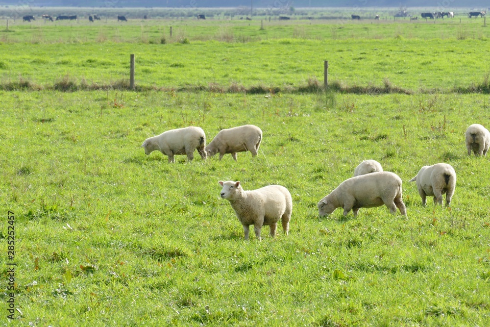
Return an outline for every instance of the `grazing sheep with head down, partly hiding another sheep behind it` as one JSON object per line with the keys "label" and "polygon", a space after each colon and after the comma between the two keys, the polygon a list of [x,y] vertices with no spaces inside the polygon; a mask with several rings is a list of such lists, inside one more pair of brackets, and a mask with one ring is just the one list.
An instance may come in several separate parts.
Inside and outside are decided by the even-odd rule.
{"label": "grazing sheep with head down, partly hiding another sheep behind it", "polygon": [[338,207],[342,207],[344,216],[352,209],[356,217],[359,208],[378,207],[383,204],[393,215],[398,208],[401,214],[406,216],[401,183],[401,178],[390,172],[376,172],[346,179],[318,202],[319,216],[329,215]]}

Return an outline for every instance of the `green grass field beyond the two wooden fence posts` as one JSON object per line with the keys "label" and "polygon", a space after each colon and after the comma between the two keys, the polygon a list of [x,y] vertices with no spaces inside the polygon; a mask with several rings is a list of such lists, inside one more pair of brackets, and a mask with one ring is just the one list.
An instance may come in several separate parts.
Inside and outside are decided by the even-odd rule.
{"label": "green grass field beyond the two wooden fence posts", "polygon": [[488,28],[457,21],[272,21],[264,30],[235,20],[16,23],[0,33],[0,81],[4,89],[67,78],[82,88],[121,84],[135,53],[143,88],[297,89],[322,80],[328,60],[330,81],[344,88],[488,92]]}

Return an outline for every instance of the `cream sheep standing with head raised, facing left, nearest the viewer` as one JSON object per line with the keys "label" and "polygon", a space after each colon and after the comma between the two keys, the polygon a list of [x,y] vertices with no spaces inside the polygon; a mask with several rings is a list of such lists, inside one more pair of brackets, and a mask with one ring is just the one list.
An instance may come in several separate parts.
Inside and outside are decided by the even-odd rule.
{"label": "cream sheep standing with head raised, facing left, nearest the viewer", "polygon": [[269,185],[257,190],[245,191],[240,181],[219,181],[223,187],[221,199],[230,201],[238,220],[244,227],[245,240],[248,228],[253,225],[255,236],[260,238],[260,229],[270,226],[270,236],[275,236],[277,222],[281,219],[284,233],[288,235],[289,221],[293,212],[293,200],[288,189],[281,185]]}

